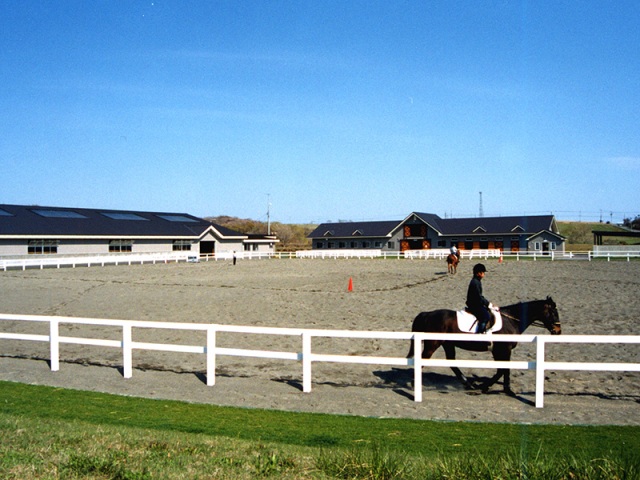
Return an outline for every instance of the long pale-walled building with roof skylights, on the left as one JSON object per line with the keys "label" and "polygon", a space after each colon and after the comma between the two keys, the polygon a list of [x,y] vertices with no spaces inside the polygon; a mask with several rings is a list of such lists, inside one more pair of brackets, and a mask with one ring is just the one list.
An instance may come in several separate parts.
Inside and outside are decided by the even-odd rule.
{"label": "long pale-walled building with roof skylights, on the left", "polygon": [[275,236],[247,235],[187,213],[0,205],[0,256],[189,251],[273,253]]}

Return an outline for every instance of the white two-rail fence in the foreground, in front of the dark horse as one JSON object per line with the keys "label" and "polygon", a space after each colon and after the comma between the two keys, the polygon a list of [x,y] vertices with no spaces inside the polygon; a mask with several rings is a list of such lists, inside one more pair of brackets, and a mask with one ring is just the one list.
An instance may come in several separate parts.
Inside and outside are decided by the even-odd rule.
{"label": "white two-rail fence in the foreground, in front of the dark horse", "polygon": [[[504,341],[517,341],[521,343],[535,343],[535,361],[510,361],[495,362],[491,360],[441,360],[422,359],[420,356],[413,358],[405,357],[376,357],[361,355],[327,355],[314,353],[312,341],[314,338],[368,338],[386,340],[412,340],[414,351],[421,352],[422,341],[425,339],[445,339],[445,340],[465,340],[465,341],[487,341],[485,335],[473,334],[444,334],[444,333],[411,333],[411,332],[382,332],[382,331],[350,331],[350,330],[314,330],[300,328],[275,328],[275,327],[248,327],[203,323],[173,323],[173,322],[149,322],[131,320],[108,320],[93,318],[73,318],[59,316],[38,316],[38,315],[12,315],[0,314],[0,321],[11,322],[47,322],[49,323],[48,335],[36,335],[25,333],[3,333],[0,332],[0,339],[5,340],[27,340],[36,342],[48,342],[50,344],[51,370],[57,371],[60,368],[59,352],[60,344],[80,344],[95,345],[103,347],[114,347],[122,349],[123,373],[125,378],[133,376],[133,351],[134,350],[161,350],[168,352],[197,353],[206,355],[206,377],[207,385],[215,385],[216,357],[218,355],[257,357],[280,360],[293,360],[302,363],[302,386],[303,391],[311,392],[312,385],[312,364],[314,362],[334,362],[334,363],[357,363],[373,365],[396,365],[408,366],[414,369],[414,400],[422,401],[422,369],[432,367],[467,367],[467,368],[509,368],[536,371],[536,407],[542,408],[544,405],[544,375],[548,370],[586,370],[586,371],[640,371],[640,363],[580,363],[580,362],[549,362],[545,359],[545,346],[548,343],[582,343],[582,344],[602,344],[602,343],[629,343],[640,344],[638,335],[492,335],[491,339],[496,342],[498,337]],[[84,337],[68,337],[60,335],[61,324],[83,324],[83,325],[103,325],[117,327],[121,330],[121,340],[105,340]],[[144,343],[133,341],[133,329],[170,329],[170,330],[191,330],[206,333],[206,343],[204,345],[176,345]],[[251,335],[288,335],[301,338],[301,349],[297,352],[280,352],[265,350],[248,350],[239,348],[221,348],[216,346],[216,335],[218,332],[236,332]]]}

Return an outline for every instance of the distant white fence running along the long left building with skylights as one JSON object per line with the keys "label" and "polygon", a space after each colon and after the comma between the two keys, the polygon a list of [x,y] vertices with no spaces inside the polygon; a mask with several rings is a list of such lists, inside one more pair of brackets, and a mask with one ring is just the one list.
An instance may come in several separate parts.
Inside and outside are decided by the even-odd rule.
{"label": "distant white fence running along the long left building with skylights", "polygon": [[26,270],[27,268],[60,268],[60,267],[91,267],[105,265],[133,265],[143,263],[169,263],[197,260],[191,252],[165,253],[125,253],[111,255],[34,255],[22,258],[0,258],[0,270]]}

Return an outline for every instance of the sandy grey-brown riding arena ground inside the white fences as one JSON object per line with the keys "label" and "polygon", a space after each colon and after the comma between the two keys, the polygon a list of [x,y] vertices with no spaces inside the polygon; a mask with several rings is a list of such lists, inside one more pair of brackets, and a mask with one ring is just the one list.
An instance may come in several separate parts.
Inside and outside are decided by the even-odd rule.
{"label": "sandy grey-brown riding arena ground inside the white fences", "polygon": [[[455,276],[435,260],[261,260],[0,272],[0,312],[320,329],[409,331],[421,311],[461,308],[475,262]],[[640,262],[487,260],[485,294],[496,305],[544,298],[558,304],[563,334],[638,335]],[[354,289],[347,291],[349,278]],[[4,322],[3,322],[4,323]],[[98,335],[67,326],[62,335]],[[2,331],[46,334],[37,324]],[[542,332],[531,327],[531,333]],[[101,338],[118,338],[113,330]],[[138,331],[136,341],[204,345],[203,334]],[[219,346],[299,351],[292,338],[219,334]],[[520,344],[514,359],[533,358]],[[404,356],[405,341],[318,340],[323,353]],[[545,407],[534,407],[535,374],[512,372],[518,393],[465,391],[448,368],[424,372],[413,401],[412,370],[314,364],[302,393],[297,362],[219,357],[216,385],[204,383],[204,356],[136,351],[133,378],[118,349],[62,345],[51,372],[48,344],[0,340],[0,379],[190,402],[375,417],[557,424],[640,424],[640,374],[547,372]],[[436,358],[444,358],[439,351]],[[489,358],[459,352],[458,358]],[[549,346],[553,361],[640,362],[637,345]],[[485,378],[489,370],[466,370]]]}

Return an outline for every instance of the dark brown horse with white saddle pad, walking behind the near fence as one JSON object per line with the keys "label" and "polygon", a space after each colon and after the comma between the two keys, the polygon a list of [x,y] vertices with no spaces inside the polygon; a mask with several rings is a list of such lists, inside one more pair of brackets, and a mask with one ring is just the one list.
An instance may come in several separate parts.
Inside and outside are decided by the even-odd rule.
{"label": "dark brown horse with white saddle pad, walking behind the near fence", "polygon": [[[545,300],[533,300],[531,302],[520,302],[515,305],[500,307],[502,314],[502,328],[498,332],[491,335],[490,342],[463,342],[449,340],[424,340],[422,358],[431,358],[433,353],[440,347],[444,348],[447,359],[454,360],[456,358],[456,347],[464,350],[475,352],[486,352],[491,349],[493,359],[496,361],[511,360],[511,350],[513,350],[517,342],[500,342],[500,334],[521,334],[527,327],[534,322],[541,322],[542,325],[551,332],[552,335],[559,335],[562,331],[560,326],[560,317],[556,303],[551,297]],[[453,310],[434,310],[431,312],[422,312],[413,320],[411,327],[412,332],[433,332],[433,333],[463,333],[458,328],[457,314]],[[408,358],[413,357],[413,341],[409,350]],[[491,348],[490,348],[491,347]],[[456,374],[464,386],[468,389],[477,388],[457,367],[451,367],[453,373]],[[487,393],[489,388],[495,384],[501,377],[504,377],[504,392],[507,395],[515,395],[511,390],[511,376],[508,368],[500,368],[498,372],[489,380],[480,385],[482,393]]]}

